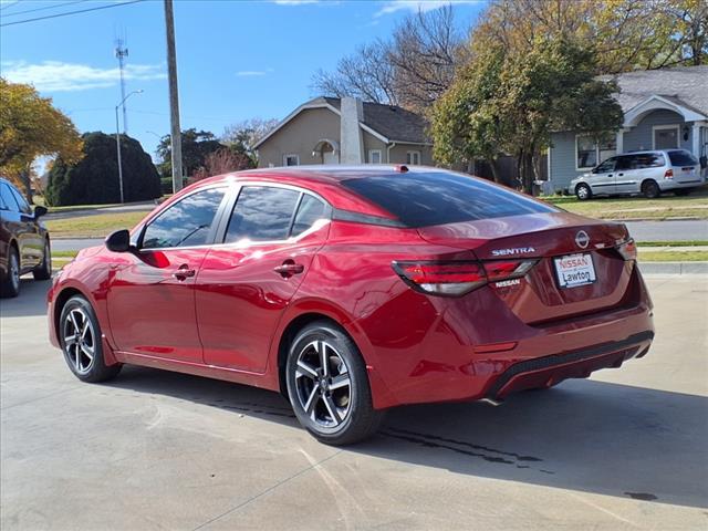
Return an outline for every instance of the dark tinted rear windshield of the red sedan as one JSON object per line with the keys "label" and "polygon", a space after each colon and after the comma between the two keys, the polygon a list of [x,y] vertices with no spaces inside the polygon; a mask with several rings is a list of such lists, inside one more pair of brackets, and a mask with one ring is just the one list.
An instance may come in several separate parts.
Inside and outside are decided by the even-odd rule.
{"label": "dark tinted rear windshield of the red sedan", "polygon": [[444,171],[371,176],[342,184],[408,227],[559,211],[483,180]]}

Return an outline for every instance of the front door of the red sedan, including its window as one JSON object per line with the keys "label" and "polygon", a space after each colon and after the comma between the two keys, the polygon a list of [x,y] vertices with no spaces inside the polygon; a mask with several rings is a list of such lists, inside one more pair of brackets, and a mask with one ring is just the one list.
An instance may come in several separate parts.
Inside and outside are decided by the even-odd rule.
{"label": "front door of the red sedan, including its window", "polygon": [[115,253],[106,298],[119,351],[202,362],[194,287],[226,191],[211,187],[184,197],[148,222],[138,250]]}

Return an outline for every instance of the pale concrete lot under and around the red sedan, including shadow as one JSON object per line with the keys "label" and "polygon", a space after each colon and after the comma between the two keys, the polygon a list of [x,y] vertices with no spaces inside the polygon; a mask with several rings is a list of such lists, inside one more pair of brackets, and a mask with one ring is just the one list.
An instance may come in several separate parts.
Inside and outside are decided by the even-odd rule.
{"label": "pale concrete lot under and around the red sedan, including shadow", "polygon": [[273,393],[127,367],[76,381],[46,283],[0,302],[1,521],[14,529],[708,528],[708,278],[649,279],[649,355],[322,446]]}

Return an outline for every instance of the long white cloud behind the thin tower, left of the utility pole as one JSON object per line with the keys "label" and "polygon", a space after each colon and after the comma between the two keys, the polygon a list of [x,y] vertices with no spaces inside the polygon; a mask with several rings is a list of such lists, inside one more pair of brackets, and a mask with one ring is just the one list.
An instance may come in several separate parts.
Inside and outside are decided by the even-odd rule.
{"label": "long white cloud behind the thin tower, left of the utility pole", "polygon": [[[126,80],[153,81],[167,77],[164,64],[127,64],[124,70]],[[97,69],[87,64],[43,61],[30,64],[27,61],[7,61],[2,63],[2,76],[14,83],[29,83],[41,92],[86,91],[106,88],[121,80],[121,73],[114,69]]]}

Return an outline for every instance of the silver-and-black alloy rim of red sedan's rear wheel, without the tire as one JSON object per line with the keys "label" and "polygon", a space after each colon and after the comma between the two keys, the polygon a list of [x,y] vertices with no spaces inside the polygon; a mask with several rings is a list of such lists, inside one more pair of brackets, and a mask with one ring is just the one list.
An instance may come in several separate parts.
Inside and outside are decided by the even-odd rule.
{"label": "silver-and-black alloy rim of red sedan's rear wheel, without the tire", "polygon": [[346,420],[352,405],[352,379],[340,353],[326,341],[308,343],[295,368],[300,406],[317,426],[335,428]]}

